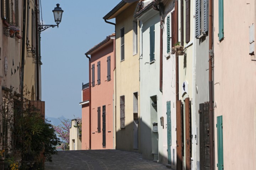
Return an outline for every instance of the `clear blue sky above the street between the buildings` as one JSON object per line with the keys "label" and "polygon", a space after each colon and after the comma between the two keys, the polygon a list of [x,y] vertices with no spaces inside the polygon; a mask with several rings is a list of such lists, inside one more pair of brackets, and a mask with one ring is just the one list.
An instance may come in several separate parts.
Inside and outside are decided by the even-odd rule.
{"label": "clear blue sky above the street between the buildings", "polygon": [[59,28],[41,32],[42,101],[46,115],[81,118],[82,83],[89,83],[89,60],[85,52],[114,33],[114,25],[102,18],[121,0],[39,1],[43,24],[56,24],[52,12],[56,4],[64,10]]}

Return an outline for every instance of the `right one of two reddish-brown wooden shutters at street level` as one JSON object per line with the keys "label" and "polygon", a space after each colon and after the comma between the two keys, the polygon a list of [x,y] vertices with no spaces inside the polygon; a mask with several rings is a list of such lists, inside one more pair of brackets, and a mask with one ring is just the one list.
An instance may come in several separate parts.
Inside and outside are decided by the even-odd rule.
{"label": "right one of two reddish-brown wooden shutters at street level", "polygon": [[190,98],[185,98],[185,136],[186,136],[186,169],[191,167],[191,112],[190,112]]}

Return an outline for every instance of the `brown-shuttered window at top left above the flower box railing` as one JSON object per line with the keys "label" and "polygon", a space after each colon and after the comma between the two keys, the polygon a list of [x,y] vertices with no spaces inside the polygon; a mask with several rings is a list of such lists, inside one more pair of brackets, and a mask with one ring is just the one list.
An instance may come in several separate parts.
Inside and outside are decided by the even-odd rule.
{"label": "brown-shuttered window at top left above the flower box railing", "polygon": [[18,0],[2,0],[2,19],[12,26],[18,27]]}

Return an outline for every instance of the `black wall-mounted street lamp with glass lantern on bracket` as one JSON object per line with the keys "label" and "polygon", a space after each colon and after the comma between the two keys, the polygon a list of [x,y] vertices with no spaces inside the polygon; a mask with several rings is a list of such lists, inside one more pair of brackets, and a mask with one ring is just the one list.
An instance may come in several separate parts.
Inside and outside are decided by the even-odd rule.
{"label": "black wall-mounted street lamp with glass lantern on bracket", "polygon": [[54,21],[56,22],[57,25],[38,25],[38,31],[42,32],[46,30],[49,27],[54,28],[57,26],[59,28],[59,23],[61,22],[62,19],[62,13],[64,12],[61,7],[59,7],[59,4],[56,4],[57,7],[54,8],[53,10],[53,15],[54,15]]}

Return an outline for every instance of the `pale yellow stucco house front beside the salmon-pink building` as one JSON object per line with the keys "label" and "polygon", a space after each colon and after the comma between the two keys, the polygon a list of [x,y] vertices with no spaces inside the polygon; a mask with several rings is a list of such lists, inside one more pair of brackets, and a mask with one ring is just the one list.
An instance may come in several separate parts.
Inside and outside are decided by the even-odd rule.
{"label": "pale yellow stucco house front beside the salmon-pink building", "polygon": [[[116,17],[116,148],[135,151],[133,147],[133,93],[139,94],[139,55],[133,55],[133,17],[137,3]],[[124,60],[121,61],[120,29],[124,28]],[[139,28],[138,28],[139,32]],[[138,33],[139,40],[139,33]],[[138,45],[139,50],[139,45]],[[120,127],[120,96],[125,96],[125,128]],[[139,108],[138,108],[139,112]],[[140,117],[140,113],[138,113]],[[140,122],[139,122],[140,126]],[[139,141],[140,143],[140,141]],[[140,145],[139,145],[140,149]]]}

